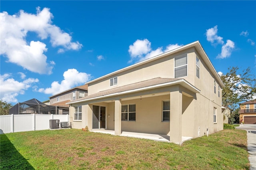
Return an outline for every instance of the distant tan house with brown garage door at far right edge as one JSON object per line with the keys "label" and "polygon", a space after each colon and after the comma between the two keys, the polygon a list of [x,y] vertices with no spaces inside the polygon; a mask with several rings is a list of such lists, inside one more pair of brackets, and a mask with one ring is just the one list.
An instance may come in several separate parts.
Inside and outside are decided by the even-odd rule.
{"label": "distant tan house with brown garage door at far right edge", "polygon": [[256,100],[240,104],[240,123],[256,124]]}

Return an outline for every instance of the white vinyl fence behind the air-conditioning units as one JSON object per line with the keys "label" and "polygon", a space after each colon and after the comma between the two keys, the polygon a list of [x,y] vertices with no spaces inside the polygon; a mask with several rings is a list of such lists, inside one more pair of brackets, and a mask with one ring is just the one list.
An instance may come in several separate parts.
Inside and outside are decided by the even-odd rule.
{"label": "white vinyl fence behind the air-conditioning units", "polygon": [[50,128],[50,119],[59,119],[60,122],[68,122],[69,115],[1,115],[0,134],[46,130]]}

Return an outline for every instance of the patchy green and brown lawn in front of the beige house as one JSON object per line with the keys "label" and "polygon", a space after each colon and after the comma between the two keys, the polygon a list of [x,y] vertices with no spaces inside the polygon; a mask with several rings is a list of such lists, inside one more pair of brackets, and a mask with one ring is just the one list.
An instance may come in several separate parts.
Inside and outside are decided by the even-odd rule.
{"label": "patchy green and brown lawn in front of the beige house", "polygon": [[1,134],[0,169],[249,170],[245,130],[176,145],[78,129]]}

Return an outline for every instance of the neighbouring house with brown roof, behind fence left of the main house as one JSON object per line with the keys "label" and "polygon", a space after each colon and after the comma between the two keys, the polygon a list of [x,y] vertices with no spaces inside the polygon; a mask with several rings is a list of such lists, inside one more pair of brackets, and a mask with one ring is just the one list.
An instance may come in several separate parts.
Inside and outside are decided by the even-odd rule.
{"label": "neighbouring house with brown roof, behind fence left of the main house", "polygon": [[52,95],[49,101],[49,105],[56,107],[57,115],[68,115],[69,114],[69,105],[66,103],[80,99],[87,96],[88,85],[81,85],[68,89],[56,95]]}

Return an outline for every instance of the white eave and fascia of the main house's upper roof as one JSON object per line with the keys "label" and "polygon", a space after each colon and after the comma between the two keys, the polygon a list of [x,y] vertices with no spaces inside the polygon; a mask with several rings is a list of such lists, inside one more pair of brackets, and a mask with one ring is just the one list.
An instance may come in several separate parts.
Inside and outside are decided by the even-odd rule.
{"label": "white eave and fascia of the main house's upper roof", "polygon": [[88,84],[90,84],[90,83],[94,83],[94,82],[96,82],[96,81],[98,81],[98,80],[101,80],[101,79],[104,79],[104,78],[106,78],[106,77],[110,77],[110,76],[112,76],[112,75],[116,75],[117,73],[121,73],[121,72],[123,72],[123,71],[126,71],[126,70],[129,70],[129,69],[138,67],[138,66],[143,65],[143,64],[145,64],[145,63],[149,63],[149,62],[154,61],[154,60],[156,60],[156,59],[160,59],[160,58],[162,58],[162,57],[166,57],[166,56],[168,56],[168,55],[177,53],[177,52],[179,52],[179,51],[183,51],[183,50],[185,50],[185,49],[189,49],[189,48],[191,48],[191,47],[195,47],[195,48],[196,48],[196,50],[198,51],[198,53],[200,54],[200,56],[202,57],[202,59],[204,60],[204,62],[206,63],[206,65],[208,66],[208,68],[210,69],[210,71],[212,72],[212,74],[214,75],[214,77],[215,77],[216,81],[218,82],[218,84],[220,85],[220,87],[223,87],[224,84],[223,84],[222,80],[220,79],[220,76],[218,75],[217,71],[215,70],[214,66],[212,65],[210,59],[209,59],[208,56],[206,55],[206,53],[205,53],[205,51],[204,51],[204,49],[203,49],[203,47],[202,47],[202,45],[200,44],[199,41],[192,42],[192,43],[187,44],[187,45],[184,45],[184,46],[182,46],[182,47],[178,47],[178,48],[176,48],[176,49],[172,49],[171,51],[168,51],[168,52],[165,52],[165,53],[156,55],[156,56],[151,57],[151,58],[149,58],[149,59],[146,59],[146,60],[144,60],[144,61],[140,61],[140,62],[138,62],[138,63],[135,63],[135,64],[133,64],[133,65],[130,65],[130,66],[128,66],[128,67],[125,67],[125,68],[123,68],[123,69],[114,71],[114,72],[112,72],[112,73],[109,73],[109,74],[107,74],[107,75],[104,75],[104,76],[102,76],[102,77],[99,77],[99,78],[97,78],[97,79],[94,79],[94,80],[92,80],[92,81],[89,81],[89,82],[87,82],[86,84],[88,85]]}

